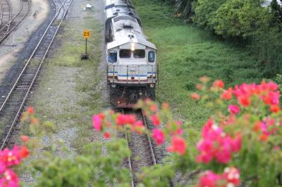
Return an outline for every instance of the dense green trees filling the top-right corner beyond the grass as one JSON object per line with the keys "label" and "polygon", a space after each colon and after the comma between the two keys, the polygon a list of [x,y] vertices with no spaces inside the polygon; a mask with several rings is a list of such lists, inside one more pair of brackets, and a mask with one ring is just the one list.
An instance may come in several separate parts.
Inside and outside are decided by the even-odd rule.
{"label": "dense green trees filling the top-right corner beyond the grass", "polygon": [[[164,0],[162,0],[164,1]],[[278,0],[282,4],[282,0]],[[171,0],[167,0],[171,3]],[[176,0],[176,13],[223,39],[250,47],[267,77],[281,72],[282,6],[272,0]]]}

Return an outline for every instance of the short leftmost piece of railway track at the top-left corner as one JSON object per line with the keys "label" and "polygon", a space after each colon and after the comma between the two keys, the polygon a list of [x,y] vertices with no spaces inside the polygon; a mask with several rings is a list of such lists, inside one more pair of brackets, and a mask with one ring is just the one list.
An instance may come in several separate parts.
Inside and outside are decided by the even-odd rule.
{"label": "short leftmost piece of railway track at the top-left corner", "polygon": [[11,21],[11,4],[9,0],[0,0],[0,30]]}

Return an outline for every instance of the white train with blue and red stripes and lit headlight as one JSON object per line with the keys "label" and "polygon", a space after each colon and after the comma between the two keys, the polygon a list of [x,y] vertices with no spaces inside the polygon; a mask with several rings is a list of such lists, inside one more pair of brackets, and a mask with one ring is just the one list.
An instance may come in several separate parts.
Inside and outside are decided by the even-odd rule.
{"label": "white train with blue and red stripes and lit headlight", "polygon": [[130,0],[104,0],[106,74],[110,103],[133,108],[139,99],[154,100],[159,68],[157,48],[147,41]]}

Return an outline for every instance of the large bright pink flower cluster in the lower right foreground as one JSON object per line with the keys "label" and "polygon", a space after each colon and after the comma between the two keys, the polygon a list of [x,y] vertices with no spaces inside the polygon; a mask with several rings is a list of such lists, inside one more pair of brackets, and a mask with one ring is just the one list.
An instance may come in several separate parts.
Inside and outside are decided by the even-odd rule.
{"label": "large bright pink flower cluster in the lower right foreground", "polygon": [[208,164],[215,159],[217,162],[226,164],[231,160],[232,154],[238,152],[242,146],[240,134],[231,138],[221,127],[209,120],[202,129],[202,139],[197,144],[200,155],[197,162]]}

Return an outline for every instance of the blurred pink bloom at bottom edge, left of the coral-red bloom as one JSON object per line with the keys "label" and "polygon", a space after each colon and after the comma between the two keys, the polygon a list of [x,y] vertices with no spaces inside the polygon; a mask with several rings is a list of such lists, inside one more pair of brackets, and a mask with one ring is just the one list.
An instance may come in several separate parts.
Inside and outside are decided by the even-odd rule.
{"label": "blurred pink bloom at bottom edge, left of the coral-red bloom", "polygon": [[200,187],[216,187],[216,183],[221,180],[219,174],[207,171],[200,176]]}

